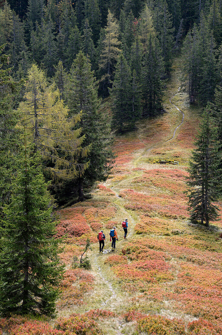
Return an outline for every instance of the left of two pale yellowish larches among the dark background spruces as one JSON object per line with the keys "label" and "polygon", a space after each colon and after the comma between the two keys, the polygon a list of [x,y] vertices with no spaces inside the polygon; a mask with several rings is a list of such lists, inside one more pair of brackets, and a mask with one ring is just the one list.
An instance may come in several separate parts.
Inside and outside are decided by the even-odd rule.
{"label": "left of two pale yellowish larches among the dark background spruces", "polygon": [[101,82],[103,92],[106,94],[108,93],[107,88],[111,87],[115,65],[117,64],[118,57],[121,53],[121,42],[118,40],[118,37],[119,32],[117,21],[112,13],[108,11],[105,39],[103,41],[103,49],[99,62],[99,68],[102,70]]}

